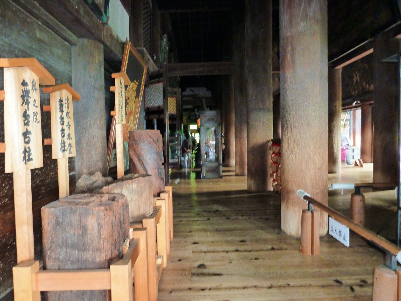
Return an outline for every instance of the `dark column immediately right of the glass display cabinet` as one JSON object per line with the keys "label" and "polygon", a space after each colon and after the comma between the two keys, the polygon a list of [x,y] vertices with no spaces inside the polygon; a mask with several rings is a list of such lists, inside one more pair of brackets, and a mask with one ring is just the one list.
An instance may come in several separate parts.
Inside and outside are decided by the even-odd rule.
{"label": "dark column immediately right of the glass display cabinet", "polygon": [[233,76],[223,75],[224,155],[225,166],[227,167],[235,166],[235,112],[233,89]]}

